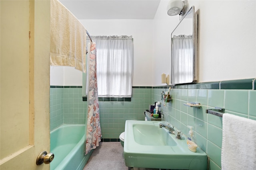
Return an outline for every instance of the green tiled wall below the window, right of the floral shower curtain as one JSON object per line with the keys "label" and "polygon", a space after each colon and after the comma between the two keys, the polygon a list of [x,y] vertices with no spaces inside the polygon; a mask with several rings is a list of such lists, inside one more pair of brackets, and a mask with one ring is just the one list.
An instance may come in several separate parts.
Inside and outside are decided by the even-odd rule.
{"label": "green tiled wall below the window, right of the floral shower curtain", "polygon": [[145,120],[144,111],[152,104],[152,87],[132,88],[131,102],[99,102],[102,138],[118,139],[126,120]]}

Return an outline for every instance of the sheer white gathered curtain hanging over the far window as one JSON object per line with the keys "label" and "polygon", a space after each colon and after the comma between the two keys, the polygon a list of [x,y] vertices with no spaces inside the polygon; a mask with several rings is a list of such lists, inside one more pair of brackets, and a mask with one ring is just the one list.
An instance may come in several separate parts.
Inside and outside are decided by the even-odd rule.
{"label": "sheer white gathered curtain hanging over the far window", "polygon": [[132,97],[132,36],[91,36],[96,43],[99,97]]}

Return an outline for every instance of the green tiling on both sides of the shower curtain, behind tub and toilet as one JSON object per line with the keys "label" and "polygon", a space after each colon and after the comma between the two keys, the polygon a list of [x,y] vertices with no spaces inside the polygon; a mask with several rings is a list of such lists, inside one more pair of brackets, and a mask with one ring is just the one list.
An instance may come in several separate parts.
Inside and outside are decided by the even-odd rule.
{"label": "green tiling on both sides of the shower curtain, behind tub and toilet", "polygon": [[[120,133],[124,132],[126,120],[144,120],[144,111],[152,104],[152,87],[132,88],[130,101],[106,99],[99,102],[102,138],[119,139]],[[56,100],[61,101],[61,105],[55,106]],[[80,86],[51,86],[50,107],[51,130],[64,123],[84,124],[86,121],[87,102],[82,101]],[[60,110],[56,111],[56,108]]]}

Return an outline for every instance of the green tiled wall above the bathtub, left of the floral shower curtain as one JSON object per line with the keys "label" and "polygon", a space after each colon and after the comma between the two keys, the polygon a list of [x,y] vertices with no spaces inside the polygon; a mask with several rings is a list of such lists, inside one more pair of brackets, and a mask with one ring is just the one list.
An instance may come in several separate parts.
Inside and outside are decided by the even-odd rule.
{"label": "green tiled wall above the bathtub, left of the floral shower curtain", "polygon": [[84,124],[87,102],[82,86],[50,86],[50,130],[66,124]]}

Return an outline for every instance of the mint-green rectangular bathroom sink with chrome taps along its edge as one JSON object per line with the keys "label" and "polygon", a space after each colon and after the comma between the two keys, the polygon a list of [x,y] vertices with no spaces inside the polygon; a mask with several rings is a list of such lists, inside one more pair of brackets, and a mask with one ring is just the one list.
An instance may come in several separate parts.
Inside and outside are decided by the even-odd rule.
{"label": "mint-green rectangular bathroom sink with chrome taps along its edge", "polygon": [[175,138],[162,121],[131,121],[125,123],[124,161],[128,167],[182,170],[207,169],[207,155],[197,148],[188,149],[186,138]]}

